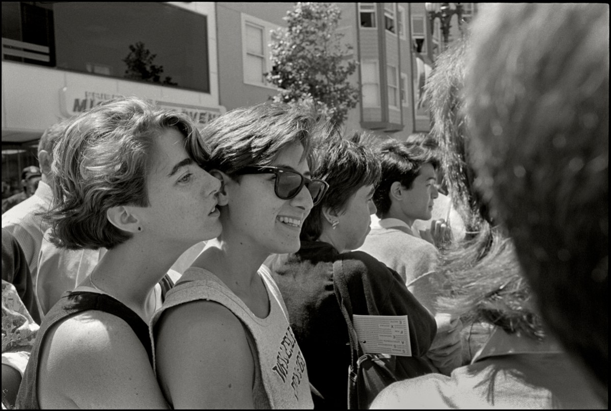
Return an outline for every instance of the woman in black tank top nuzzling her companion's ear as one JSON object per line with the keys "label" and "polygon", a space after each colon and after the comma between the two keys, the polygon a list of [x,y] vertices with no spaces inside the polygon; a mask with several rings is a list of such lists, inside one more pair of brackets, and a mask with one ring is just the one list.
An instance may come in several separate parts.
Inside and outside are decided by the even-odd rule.
{"label": "woman in black tank top nuzzling her companion's ear", "polygon": [[108,251],[43,319],[18,408],[167,408],[147,323],[172,263],[221,232],[208,159],[191,118],[136,97],[70,123],[53,150],[51,241]]}

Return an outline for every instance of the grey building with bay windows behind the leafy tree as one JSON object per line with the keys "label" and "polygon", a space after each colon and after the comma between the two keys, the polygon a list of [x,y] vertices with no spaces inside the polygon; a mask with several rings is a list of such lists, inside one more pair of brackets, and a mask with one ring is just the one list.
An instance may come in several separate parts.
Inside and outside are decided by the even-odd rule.
{"label": "grey building with bay windows behind the leafy tree", "polygon": [[[360,84],[362,91],[359,104],[348,113],[346,131],[367,130],[398,140],[428,131],[430,116],[421,97],[434,59],[442,51],[439,19],[431,23],[424,3],[337,5],[342,10],[338,28],[342,42],[353,46],[347,57],[359,62],[350,81]],[[463,7],[466,18],[475,12],[475,3]],[[286,25],[284,17],[290,10],[290,2],[216,2],[220,101],[227,110],[276,94],[265,80],[272,68],[269,32]],[[455,18],[450,41],[459,35]]]}

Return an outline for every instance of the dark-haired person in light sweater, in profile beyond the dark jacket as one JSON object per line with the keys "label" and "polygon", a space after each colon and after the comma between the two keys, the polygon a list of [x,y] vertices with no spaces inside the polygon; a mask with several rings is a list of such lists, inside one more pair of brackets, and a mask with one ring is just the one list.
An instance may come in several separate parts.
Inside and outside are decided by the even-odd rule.
{"label": "dark-haired person in light sweater, in profile beyond the dark jacket", "polygon": [[[397,271],[414,297],[435,316],[437,333],[426,357],[436,371],[450,374],[463,365],[460,338],[463,324],[460,319],[436,310],[434,302],[444,288],[444,279],[435,271],[439,251],[412,231],[415,219],[431,217],[438,196],[439,159],[429,148],[397,140],[383,142],[375,154],[382,170],[373,194],[380,219],[371,223],[371,231],[358,250]],[[445,224],[432,227],[442,231],[439,236],[447,235]]]}

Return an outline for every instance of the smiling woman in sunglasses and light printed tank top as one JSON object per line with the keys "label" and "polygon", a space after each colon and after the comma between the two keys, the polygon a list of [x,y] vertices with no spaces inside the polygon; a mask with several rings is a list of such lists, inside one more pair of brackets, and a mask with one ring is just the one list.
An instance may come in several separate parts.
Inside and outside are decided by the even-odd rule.
{"label": "smiling woman in sunglasses and light printed tank top", "polygon": [[167,294],[151,324],[156,372],[175,408],[312,408],[304,356],[276,283],[271,253],[299,249],[299,233],[327,184],[310,178],[323,129],[279,104],[236,109],[207,125],[221,180],[223,232]]}

